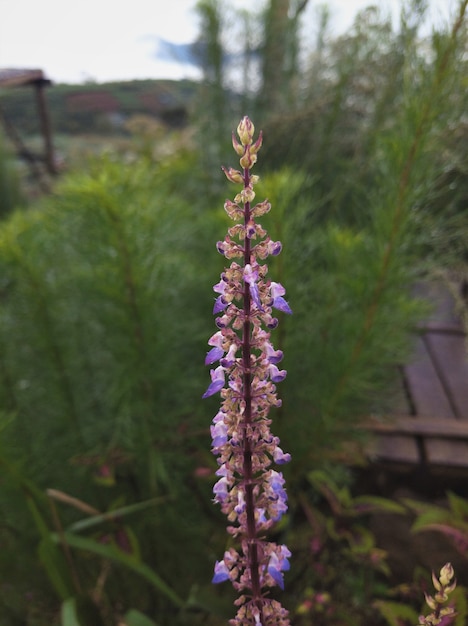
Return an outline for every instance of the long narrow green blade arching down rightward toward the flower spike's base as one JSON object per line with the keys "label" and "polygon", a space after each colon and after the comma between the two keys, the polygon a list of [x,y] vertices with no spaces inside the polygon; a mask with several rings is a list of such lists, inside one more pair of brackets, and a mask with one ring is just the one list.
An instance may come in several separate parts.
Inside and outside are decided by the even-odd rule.
{"label": "long narrow green blade arching down rightward toward the flower spike's base", "polygon": [[[183,600],[164,582],[164,580],[154,570],[148,567],[148,565],[146,565],[145,563],[138,562],[133,555],[122,552],[122,550],[119,550],[116,546],[105,545],[99,543],[98,541],[94,541],[94,539],[80,537],[79,535],[74,535],[70,532],[65,532],[64,537],[68,545],[72,548],[76,548],[78,550],[86,550],[88,552],[92,552],[93,554],[102,556],[105,559],[110,559],[112,561],[120,563],[121,565],[124,565],[128,569],[142,576],[150,584],[152,584],[153,587],[155,587],[160,593],[165,595],[166,598],[168,598],[175,606],[180,608],[184,605]],[[57,543],[60,541],[60,538],[56,533],[53,533],[52,538]]]}

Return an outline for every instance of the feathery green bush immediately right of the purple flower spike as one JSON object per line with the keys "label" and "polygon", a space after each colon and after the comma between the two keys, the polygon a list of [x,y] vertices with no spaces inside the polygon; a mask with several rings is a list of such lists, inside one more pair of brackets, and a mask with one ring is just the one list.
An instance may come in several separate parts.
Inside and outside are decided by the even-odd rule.
{"label": "feathery green bush immediately right of the purple flower spike", "polygon": [[294,312],[280,331],[288,378],[279,419],[298,468],[364,434],[358,420],[386,408],[423,308],[410,296],[417,265],[411,268],[408,233],[387,260],[391,224],[384,208],[375,207],[367,227],[343,226],[324,218],[310,176],[281,170],[262,180],[259,193],[275,207],[265,226],[288,251],[272,271],[288,285]]}

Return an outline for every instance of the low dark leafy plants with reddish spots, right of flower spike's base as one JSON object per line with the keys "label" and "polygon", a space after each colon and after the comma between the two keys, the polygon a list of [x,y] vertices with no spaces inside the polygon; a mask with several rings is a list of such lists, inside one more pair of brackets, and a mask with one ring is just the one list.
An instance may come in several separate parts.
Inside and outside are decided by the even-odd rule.
{"label": "low dark leafy plants with reddish spots, right of flower spike's base", "polygon": [[288,537],[296,554],[297,623],[380,623],[374,600],[388,600],[390,571],[368,516],[400,515],[404,507],[385,498],[354,497],[328,471],[309,472],[307,481],[295,499]]}

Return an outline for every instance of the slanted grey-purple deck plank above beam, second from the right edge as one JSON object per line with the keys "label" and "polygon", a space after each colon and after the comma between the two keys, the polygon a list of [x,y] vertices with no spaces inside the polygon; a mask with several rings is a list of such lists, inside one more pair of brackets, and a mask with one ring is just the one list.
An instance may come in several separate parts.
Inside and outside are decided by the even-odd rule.
{"label": "slanted grey-purple deck plank above beam, second from the right edge", "polygon": [[404,367],[404,373],[417,416],[455,418],[422,337],[417,337],[414,361]]}

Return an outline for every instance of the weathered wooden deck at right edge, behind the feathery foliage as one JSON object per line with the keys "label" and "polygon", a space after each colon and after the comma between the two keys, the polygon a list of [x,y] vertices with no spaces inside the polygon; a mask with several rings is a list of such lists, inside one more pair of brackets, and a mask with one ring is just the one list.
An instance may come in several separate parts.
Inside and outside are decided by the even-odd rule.
{"label": "weathered wooden deck at right edge, behind the feathery foliage", "polygon": [[[370,457],[393,466],[467,470],[466,331],[447,287],[434,284],[423,289],[434,310],[415,337],[413,358],[401,369],[394,415],[371,421],[375,437]],[[460,289],[460,300],[464,296]]]}

